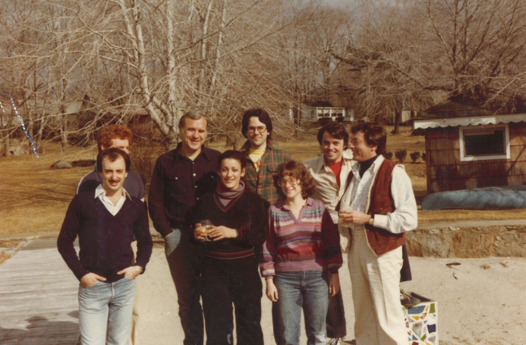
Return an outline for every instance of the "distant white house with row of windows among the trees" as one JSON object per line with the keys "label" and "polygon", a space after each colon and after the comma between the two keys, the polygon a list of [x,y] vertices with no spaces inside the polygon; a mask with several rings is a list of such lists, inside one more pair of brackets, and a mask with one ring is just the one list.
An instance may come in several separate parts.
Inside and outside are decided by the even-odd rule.
{"label": "distant white house with row of windows among the trees", "polygon": [[[289,109],[289,116],[290,119],[294,116],[292,108]],[[301,105],[301,120],[352,122],[355,120],[355,110],[347,107],[335,107],[326,101],[304,103]]]}

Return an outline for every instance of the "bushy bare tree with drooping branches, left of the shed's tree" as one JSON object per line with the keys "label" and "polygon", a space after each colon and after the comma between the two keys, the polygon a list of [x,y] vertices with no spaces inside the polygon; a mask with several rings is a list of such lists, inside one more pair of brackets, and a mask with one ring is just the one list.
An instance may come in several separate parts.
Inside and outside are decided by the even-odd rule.
{"label": "bushy bare tree with drooping branches, left of the shed's tree", "polygon": [[423,63],[425,45],[419,28],[413,25],[410,6],[374,2],[361,7],[360,25],[340,72],[347,80],[346,90],[356,95],[358,113],[366,120],[379,121],[396,114],[398,133],[402,110],[417,110],[436,99],[429,70]]}

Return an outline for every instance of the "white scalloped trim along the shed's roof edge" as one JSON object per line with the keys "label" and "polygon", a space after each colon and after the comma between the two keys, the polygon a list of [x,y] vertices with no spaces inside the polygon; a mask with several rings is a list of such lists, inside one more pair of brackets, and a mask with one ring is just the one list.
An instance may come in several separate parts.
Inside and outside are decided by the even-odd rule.
{"label": "white scalloped trim along the shed's roof edge", "polygon": [[492,115],[492,116],[473,116],[464,118],[449,118],[449,119],[429,119],[429,120],[414,120],[413,130],[437,128],[437,127],[457,127],[457,126],[477,126],[478,124],[497,124],[526,121],[526,113],[509,114],[509,115]]}

